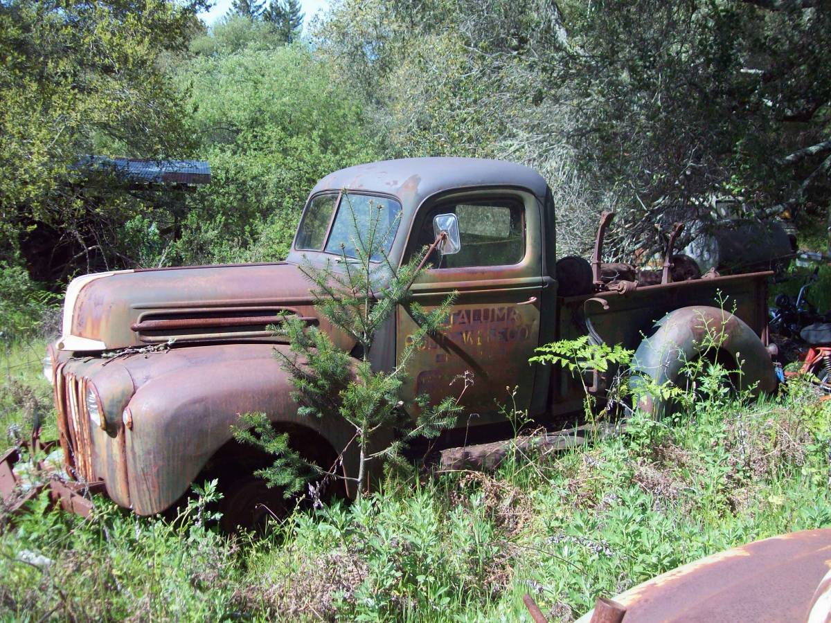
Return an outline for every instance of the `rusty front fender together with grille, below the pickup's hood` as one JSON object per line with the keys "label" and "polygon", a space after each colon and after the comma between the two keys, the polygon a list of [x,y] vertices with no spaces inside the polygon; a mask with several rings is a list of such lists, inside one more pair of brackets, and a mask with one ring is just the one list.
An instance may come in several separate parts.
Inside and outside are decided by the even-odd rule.
{"label": "rusty front fender together with grille, below the pickup's hood", "polygon": [[[312,429],[343,449],[351,437],[335,420],[297,415],[288,373],[269,344],[189,346],[115,359],[78,358],[59,370],[70,425],[67,454],[85,482],[103,479],[116,503],[158,513],[184,493],[211,456],[231,439],[239,414],[261,412]],[[90,427],[82,388],[101,395],[105,428]],[[106,389],[105,389],[106,388]],[[129,410],[131,428],[125,427]],[[86,427],[85,427],[86,424]],[[355,473],[354,449],[344,468]]]}

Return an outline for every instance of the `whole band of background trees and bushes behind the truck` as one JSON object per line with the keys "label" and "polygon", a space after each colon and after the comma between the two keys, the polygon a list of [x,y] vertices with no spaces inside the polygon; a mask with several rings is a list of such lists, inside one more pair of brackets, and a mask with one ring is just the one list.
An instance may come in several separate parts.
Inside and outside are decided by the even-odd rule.
{"label": "whole band of background trees and bushes behind the truck", "polygon": [[[824,2],[344,0],[306,41],[296,0],[203,8],[0,4],[0,260],[65,281],[280,258],[322,174],[413,155],[541,170],[563,255],[606,208],[624,261],[716,198],[828,221]],[[88,155],[208,159],[214,183],[136,188]]]}

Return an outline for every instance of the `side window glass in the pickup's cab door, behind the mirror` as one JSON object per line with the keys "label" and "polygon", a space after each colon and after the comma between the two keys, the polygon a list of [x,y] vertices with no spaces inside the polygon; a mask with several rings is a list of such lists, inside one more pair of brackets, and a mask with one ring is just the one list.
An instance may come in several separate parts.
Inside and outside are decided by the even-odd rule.
{"label": "side window glass in the pickup's cab door, behind the mirror", "polygon": [[421,223],[418,253],[433,242],[433,217],[455,213],[462,248],[459,253],[434,259],[433,268],[509,266],[525,256],[525,208],[519,199],[499,198],[445,202],[431,208]]}

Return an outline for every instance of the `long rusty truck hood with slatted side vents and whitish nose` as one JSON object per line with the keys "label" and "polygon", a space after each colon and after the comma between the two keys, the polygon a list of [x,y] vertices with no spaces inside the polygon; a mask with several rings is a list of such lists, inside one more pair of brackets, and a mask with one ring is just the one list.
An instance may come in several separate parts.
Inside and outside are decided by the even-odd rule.
{"label": "long rusty truck hood with slatted side vents and whitish nose", "polygon": [[78,277],[67,288],[58,348],[276,341],[266,327],[286,313],[320,322],[307,278],[287,262],[100,272]]}

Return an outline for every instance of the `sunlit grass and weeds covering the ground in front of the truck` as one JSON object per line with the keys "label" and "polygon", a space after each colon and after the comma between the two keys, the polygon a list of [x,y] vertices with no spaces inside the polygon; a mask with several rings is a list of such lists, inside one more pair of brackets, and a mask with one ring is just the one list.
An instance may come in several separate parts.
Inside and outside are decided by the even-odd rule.
{"label": "sunlit grass and weeds covering the ground in front of the truck", "polygon": [[[40,391],[35,370],[26,382]],[[530,592],[551,621],[572,621],[597,596],[712,552],[831,525],[829,453],[829,402],[796,380],[760,402],[699,392],[671,419],[636,416],[621,436],[518,454],[495,473],[423,473],[350,506],[298,510],[258,542],[209,527],[210,484],[175,519],[100,500],[86,522],[44,513],[41,500],[0,530],[0,609],[27,620],[527,621]]]}

